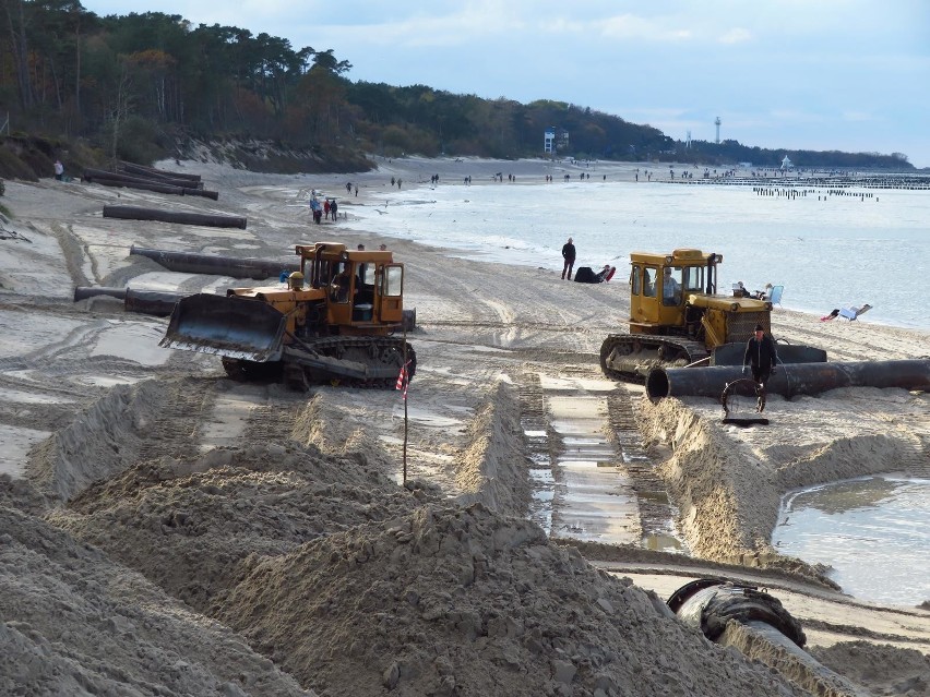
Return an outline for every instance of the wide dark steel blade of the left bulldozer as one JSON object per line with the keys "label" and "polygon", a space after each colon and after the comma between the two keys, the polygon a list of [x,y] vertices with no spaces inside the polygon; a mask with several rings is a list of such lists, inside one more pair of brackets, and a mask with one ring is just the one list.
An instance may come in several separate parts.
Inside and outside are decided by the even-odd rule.
{"label": "wide dark steel blade of the left bulldozer", "polygon": [[261,300],[198,293],[175,305],[159,346],[263,363],[281,358],[286,324]]}

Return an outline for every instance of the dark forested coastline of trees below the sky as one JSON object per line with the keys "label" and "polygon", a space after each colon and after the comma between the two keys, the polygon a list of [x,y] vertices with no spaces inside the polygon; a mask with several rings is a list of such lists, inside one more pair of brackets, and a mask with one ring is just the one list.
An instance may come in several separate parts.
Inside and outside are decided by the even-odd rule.
{"label": "dark forested coastline of trees below the sky", "polygon": [[[330,154],[559,156],[775,167],[785,151],[736,141],[685,148],[649,125],[563,101],[521,104],[349,80],[333,49],[207,26],[160,12],[98,16],[78,0],[0,0],[0,104],[8,132],[83,139],[114,159],[150,163],[186,136],[246,137]],[[0,112],[0,125],[8,116]],[[902,154],[791,151],[807,167],[907,169]]]}

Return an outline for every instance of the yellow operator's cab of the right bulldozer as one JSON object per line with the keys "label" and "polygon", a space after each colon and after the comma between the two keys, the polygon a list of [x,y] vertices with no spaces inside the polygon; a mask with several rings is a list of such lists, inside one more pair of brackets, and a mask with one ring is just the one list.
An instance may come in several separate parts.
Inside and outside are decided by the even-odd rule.
{"label": "yellow operator's cab of the right bulldozer", "polygon": [[661,333],[684,327],[689,298],[714,295],[719,254],[675,250],[671,254],[633,252],[630,255],[630,331]]}

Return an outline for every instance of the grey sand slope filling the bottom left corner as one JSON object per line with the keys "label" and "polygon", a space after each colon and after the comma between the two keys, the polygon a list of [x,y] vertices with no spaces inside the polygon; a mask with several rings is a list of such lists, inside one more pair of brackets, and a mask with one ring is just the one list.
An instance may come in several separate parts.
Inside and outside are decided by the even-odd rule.
{"label": "grey sand slope filling the bottom left corner", "polygon": [[99,550],[10,508],[0,529],[0,693],[308,694]]}

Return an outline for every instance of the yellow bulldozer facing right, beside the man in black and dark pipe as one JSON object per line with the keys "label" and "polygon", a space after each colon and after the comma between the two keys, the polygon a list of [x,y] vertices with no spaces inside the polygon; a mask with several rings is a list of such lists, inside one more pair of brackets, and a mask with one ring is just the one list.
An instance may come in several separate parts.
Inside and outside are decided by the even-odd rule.
{"label": "yellow bulldozer facing right, beside the man in black and dark pipe", "polygon": [[[771,334],[772,303],[718,293],[723,261],[693,249],[630,254],[630,332],[604,340],[604,374],[642,382],[653,368],[741,364],[755,325]],[[826,361],[822,349],[777,344],[783,363]]]}

